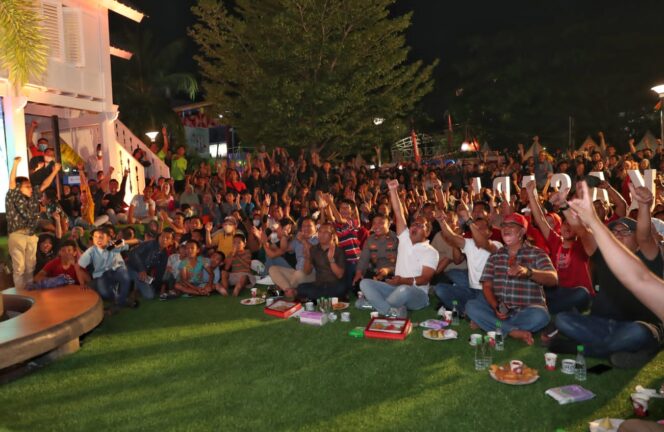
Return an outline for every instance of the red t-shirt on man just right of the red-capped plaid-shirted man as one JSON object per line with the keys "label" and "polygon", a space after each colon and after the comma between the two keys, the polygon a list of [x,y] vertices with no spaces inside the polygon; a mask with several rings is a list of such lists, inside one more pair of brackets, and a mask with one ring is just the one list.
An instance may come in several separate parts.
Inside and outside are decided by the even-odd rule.
{"label": "red t-shirt on man just right of the red-capped plaid-shirted man", "polygon": [[590,258],[583,249],[581,240],[576,240],[571,248],[563,247],[563,239],[554,230],[549,232],[549,250],[551,261],[558,271],[558,286],[561,288],[584,287],[590,295],[595,295],[590,280],[588,264]]}

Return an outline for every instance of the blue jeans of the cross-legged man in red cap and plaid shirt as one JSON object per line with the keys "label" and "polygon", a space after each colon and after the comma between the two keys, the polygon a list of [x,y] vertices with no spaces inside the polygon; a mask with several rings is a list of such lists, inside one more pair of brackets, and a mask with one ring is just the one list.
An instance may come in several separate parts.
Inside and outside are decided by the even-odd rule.
{"label": "blue jeans of the cross-legged man in red cap and plaid shirt", "polygon": [[500,321],[503,334],[512,330],[525,330],[536,332],[549,323],[549,312],[539,306],[529,306],[513,311],[506,320],[500,320],[493,308],[489,305],[484,294],[466,304],[466,315],[479,325],[484,331],[496,330],[496,321]]}

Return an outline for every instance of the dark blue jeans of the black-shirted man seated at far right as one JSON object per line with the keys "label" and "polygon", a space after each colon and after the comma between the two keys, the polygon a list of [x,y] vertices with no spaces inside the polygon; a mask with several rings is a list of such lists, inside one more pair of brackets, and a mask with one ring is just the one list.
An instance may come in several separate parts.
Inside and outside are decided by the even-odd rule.
{"label": "dark blue jeans of the black-shirted man seated at far right", "polygon": [[644,325],[593,315],[562,312],[556,316],[560,333],[584,345],[591,357],[608,357],[619,351],[655,349],[657,341]]}

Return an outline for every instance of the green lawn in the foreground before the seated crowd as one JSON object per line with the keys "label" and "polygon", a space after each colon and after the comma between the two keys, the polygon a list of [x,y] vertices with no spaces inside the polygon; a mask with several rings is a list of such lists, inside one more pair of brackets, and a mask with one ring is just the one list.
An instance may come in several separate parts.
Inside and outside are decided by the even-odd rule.
{"label": "green lawn in the foreground before the seated crowd", "polygon": [[[508,340],[496,353],[540,370],[535,384],[512,387],[474,370],[466,324],[453,341],[420,330],[403,342],[354,339],[348,331],[369,317],[352,315],[317,328],[217,296],[143,302],[78,353],[1,387],[0,430],[583,431],[631,416],[630,389],[664,377],[660,355],[638,373],[590,375],[597,397],[559,406],[544,391],[574,380],[544,370],[543,348]],[[651,418],[662,417],[664,402],[651,403]]]}

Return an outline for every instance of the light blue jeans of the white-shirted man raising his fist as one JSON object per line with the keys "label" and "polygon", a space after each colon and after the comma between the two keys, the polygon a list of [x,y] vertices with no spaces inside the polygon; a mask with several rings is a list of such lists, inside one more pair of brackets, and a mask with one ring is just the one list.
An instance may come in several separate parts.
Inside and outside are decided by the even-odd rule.
{"label": "light blue jeans of the white-shirted man raising his fist", "polygon": [[418,310],[429,305],[429,295],[412,285],[392,286],[386,282],[362,279],[360,290],[371,306],[382,315],[386,315],[390,308],[406,306],[410,310]]}

